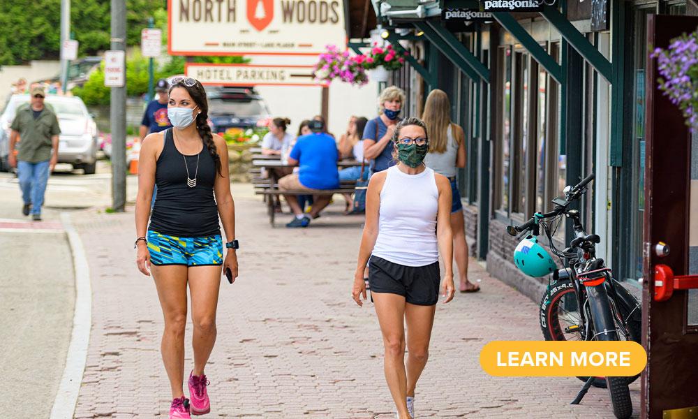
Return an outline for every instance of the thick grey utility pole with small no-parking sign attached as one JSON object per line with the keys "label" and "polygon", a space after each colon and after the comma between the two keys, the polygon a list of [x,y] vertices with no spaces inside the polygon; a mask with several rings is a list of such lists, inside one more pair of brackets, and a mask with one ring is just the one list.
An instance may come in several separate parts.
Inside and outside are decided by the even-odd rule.
{"label": "thick grey utility pole with small no-parking sign attached", "polygon": [[[126,52],[126,0],[112,1],[112,50]],[[124,61],[126,60],[124,55]],[[125,72],[124,72],[125,73]],[[112,210],[126,206],[126,75],[124,86],[112,87]]]}

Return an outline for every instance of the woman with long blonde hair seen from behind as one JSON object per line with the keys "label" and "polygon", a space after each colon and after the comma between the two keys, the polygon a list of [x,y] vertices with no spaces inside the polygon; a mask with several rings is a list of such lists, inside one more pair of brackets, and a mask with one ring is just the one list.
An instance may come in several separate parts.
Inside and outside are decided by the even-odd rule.
{"label": "woman with long blonde hair seen from behind", "polygon": [[451,121],[451,103],[443,90],[432,90],[426,98],[422,119],[429,128],[429,153],[424,163],[451,182],[453,203],[451,229],[453,230],[453,254],[458,266],[461,293],[475,293],[480,286],[468,281],[468,242],[466,242],[463,204],[458,191],[458,168],[466,167],[466,135],[461,126]]}

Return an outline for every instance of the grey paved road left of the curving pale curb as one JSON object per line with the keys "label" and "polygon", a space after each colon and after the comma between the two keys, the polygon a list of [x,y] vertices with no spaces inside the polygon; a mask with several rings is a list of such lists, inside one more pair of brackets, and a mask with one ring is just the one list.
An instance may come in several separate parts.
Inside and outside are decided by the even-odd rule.
{"label": "grey paved road left of the curving pale curb", "polygon": [[[73,327],[73,259],[61,212],[110,205],[110,166],[82,175],[59,165],[50,177],[41,222],[22,216],[17,179],[0,173],[0,394],[13,406],[6,418],[48,418],[66,362]],[[131,194],[135,178],[129,178]]]}

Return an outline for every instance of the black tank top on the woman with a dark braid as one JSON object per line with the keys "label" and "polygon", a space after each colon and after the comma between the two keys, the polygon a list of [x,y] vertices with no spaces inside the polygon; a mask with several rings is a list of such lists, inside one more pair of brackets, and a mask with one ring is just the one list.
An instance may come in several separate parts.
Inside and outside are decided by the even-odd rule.
{"label": "black tank top on the woman with a dark braid", "polygon": [[[198,154],[197,172],[197,156],[184,156],[174,147],[172,128],[168,128],[164,136],[165,145],[155,170],[158,192],[148,230],[175,237],[221,234],[214,199],[214,182],[218,174],[208,148],[204,145]],[[184,159],[189,168],[189,177],[196,177],[193,188],[186,184]]]}

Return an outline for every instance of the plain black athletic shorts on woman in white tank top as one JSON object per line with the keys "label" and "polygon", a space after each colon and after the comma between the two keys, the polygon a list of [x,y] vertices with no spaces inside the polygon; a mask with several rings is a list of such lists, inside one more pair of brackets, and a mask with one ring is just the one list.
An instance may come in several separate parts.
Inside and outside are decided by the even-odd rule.
{"label": "plain black athletic shorts on woman in white tank top", "polygon": [[426,266],[405,266],[378,256],[369,260],[371,293],[397,294],[410,304],[434,305],[438,302],[440,281],[438,261]]}

